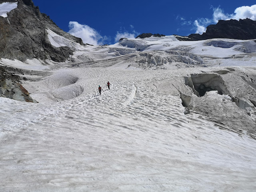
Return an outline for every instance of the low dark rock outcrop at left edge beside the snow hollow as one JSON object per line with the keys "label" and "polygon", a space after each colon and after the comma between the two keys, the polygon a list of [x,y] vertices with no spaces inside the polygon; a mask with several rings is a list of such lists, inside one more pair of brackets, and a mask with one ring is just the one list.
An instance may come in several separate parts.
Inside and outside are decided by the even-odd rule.
{"label": "low dark rock outcrop at left edge beside the snow hollow", "polygon": [[0,97],[37,103],[20,84],[20,76],[10,73],[8,68],[6,70],[6,67],[2,66],[0,66]]}

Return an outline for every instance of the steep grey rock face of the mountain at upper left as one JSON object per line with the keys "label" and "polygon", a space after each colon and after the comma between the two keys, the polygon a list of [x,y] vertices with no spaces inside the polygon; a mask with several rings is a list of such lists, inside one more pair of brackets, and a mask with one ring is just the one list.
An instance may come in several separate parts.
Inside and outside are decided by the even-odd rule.
{"label": "steep grey rock face of the mountain at upper left", "polygon": [[[3,2],[16,2],[13,0],[0,0]],[[48,40],[46,29],[56,34],[78,42],[76,38],[56,26],[46,14],[42,14],[31,0],[18,0],[18,8],[9,12],[7,18],[0,17],[0,58],[26,59],[40,58],[55,62],[64,62],[72,55],[68,47],[54,47]]]}

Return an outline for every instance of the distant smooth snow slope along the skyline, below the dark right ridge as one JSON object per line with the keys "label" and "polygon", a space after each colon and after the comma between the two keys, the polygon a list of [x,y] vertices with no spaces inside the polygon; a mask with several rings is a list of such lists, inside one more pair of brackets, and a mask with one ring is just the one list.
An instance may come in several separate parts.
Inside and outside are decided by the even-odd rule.
{"label": "distant smooth snow slope along the skyline, below the dark right ridge", "polygon": [[[224,58],[241,52],[256,52],[254,40],[210,39],[202,41],[178,41],[174,36],[144,39],[124,39],[112,47],[124,46],[138,51],[184,50],[194,54]],[[239,49],[240,48],[240,49]]]}

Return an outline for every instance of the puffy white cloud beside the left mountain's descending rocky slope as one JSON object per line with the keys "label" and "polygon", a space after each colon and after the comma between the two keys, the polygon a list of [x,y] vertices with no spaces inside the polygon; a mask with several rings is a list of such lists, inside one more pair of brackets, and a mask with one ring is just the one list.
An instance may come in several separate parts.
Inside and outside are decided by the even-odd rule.
{"label": "puffy white cloud beside the left mountain's descending rocky slope", "polygon": [[80,37],[84,43],[99,45],[104,44],[106,36],[102,37],[95,29],[89,27],[88,25],[82,25],[75,21],[70,21],[68,27],[70,28],[70,34]]}

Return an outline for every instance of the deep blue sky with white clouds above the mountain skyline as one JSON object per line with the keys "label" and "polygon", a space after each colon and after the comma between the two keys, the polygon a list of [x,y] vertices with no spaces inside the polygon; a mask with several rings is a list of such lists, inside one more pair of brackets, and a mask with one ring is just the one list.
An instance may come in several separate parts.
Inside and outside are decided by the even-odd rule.
{"label": "deep blue sky with white clouds above the mountain skyline", "polygon": [[[89,44],[113,44],[142,33],[202,33],[218,19],[256,20],[255,0],[33,0],[64,31]],[[255,6],[254,6],[255,5]],[[247,7],[242,7],[247,6]],[[236,10],[236,12],[235,12]]]}

